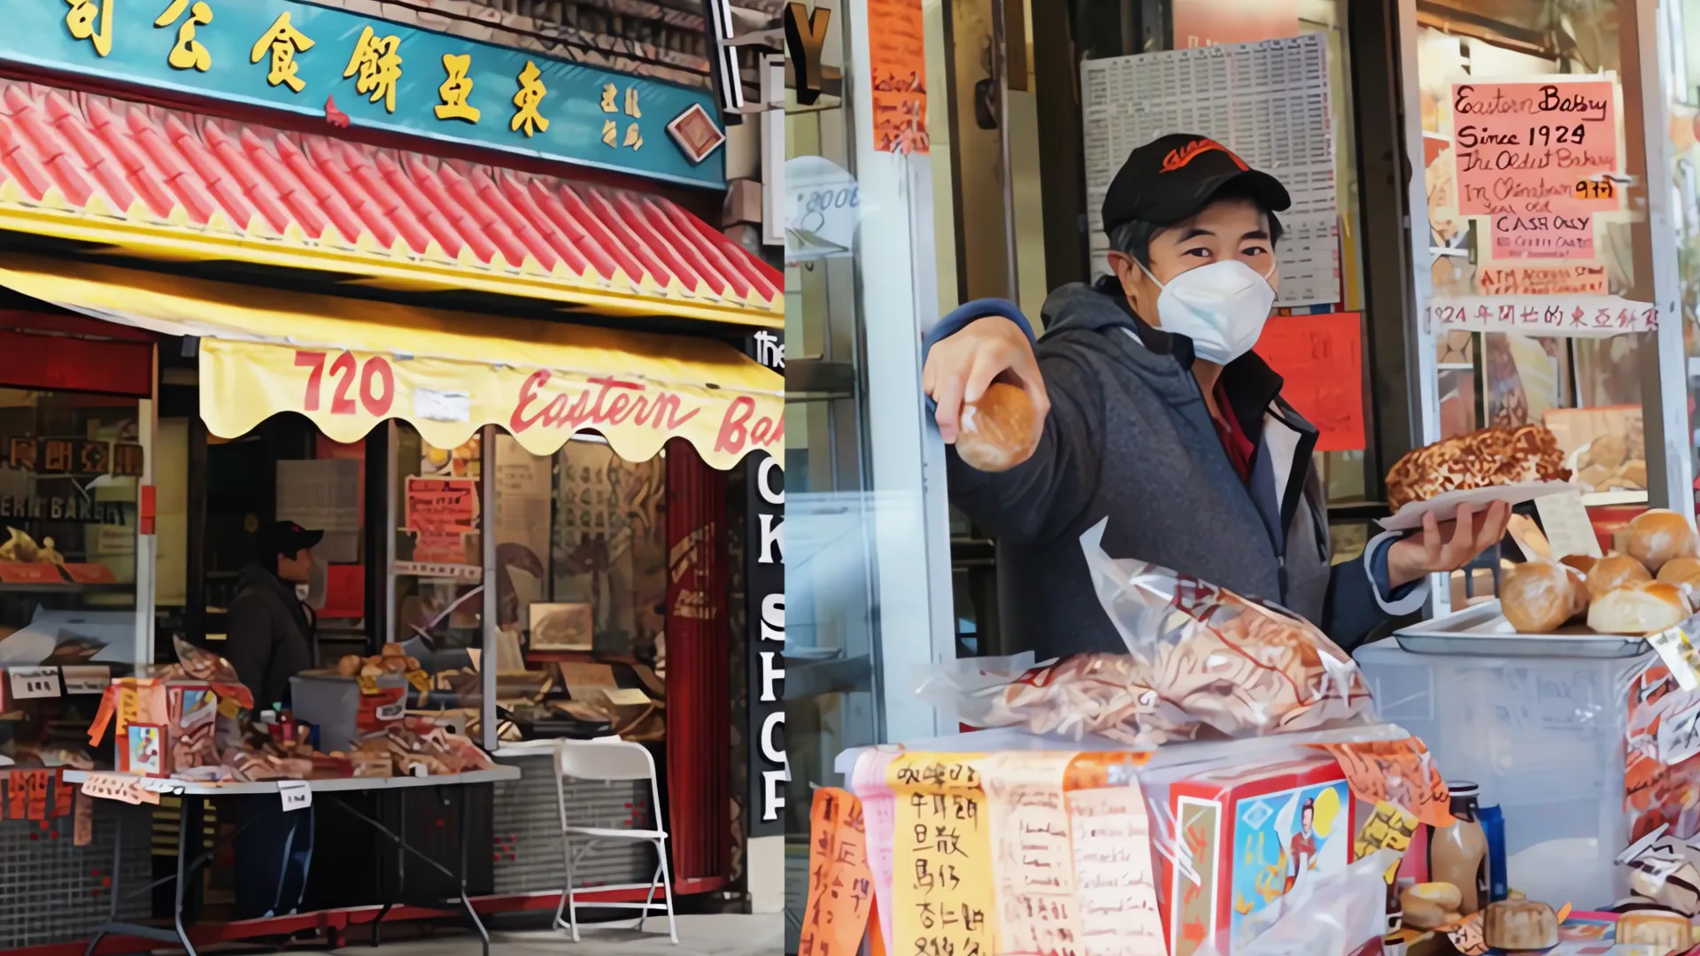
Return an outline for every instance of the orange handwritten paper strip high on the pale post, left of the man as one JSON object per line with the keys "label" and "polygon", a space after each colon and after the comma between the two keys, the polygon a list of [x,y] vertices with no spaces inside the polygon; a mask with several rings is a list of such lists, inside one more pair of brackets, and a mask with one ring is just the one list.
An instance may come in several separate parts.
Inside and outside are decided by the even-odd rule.
{"label": "orange handwritten paper strip high on the pale post, left of the man", "polygon": [[926,32],[921,0],[867,0],[869,70],[874,78],[874,146],[926,153]]}

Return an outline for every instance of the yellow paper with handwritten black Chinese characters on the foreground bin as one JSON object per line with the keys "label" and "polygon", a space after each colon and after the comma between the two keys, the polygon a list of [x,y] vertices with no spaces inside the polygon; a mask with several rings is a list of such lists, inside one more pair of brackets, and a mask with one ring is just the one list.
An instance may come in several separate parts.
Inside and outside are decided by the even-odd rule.
{"label": "yellow paper with handwritten black Chinese characters on the foreground bin", "polygon": [[916,956],[1001,953],[991,888],[991,825],[978,754],[903,754],[886,782],[896,798],[892,939]]}

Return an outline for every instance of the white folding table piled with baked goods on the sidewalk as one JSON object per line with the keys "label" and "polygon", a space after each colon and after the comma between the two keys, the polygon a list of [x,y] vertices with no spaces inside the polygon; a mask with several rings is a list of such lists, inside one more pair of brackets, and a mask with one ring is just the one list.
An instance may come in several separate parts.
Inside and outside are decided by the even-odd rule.
{"label": "white folding table piled with baked goods on the sidewalk", "polygon": [[[396,794],[405,801],[415,791],[428,791],[425,796],[447,805],[445,788],[513,781],[520,776],[515,767],[495,764],[450,723],[403,711],[403,687],[384,687],[377,675],[394,674],[403,682],[427,684],[413,677],[418,670],[411,658],[389,645],[382,655],[345,663],[342,670],[350,672],[347,677],[294,677],[294,694],[320,721],[306,723],[298,721],[298,714],[291,711],[255,713],[252,694],[236,680],[224,658],[182,641],[177,643],[177,655],[175,665],[151,669],[146,677],[114,679],[107,687],[88,730],[88,742],[99,745],[110,728],[117,769],[63,774],[65,782],[78,788],[80,805],[90,800],[128,805],[158,805],[162,796],[178,800],[175,873],[126,890],[122,859],[116,856],[110,874],[112,908],[107,922],[97,929],[88,953],[109,934],[172,942],[196,953],[184,927],[189,883],[211,864],[219,847],[260,820],[258,815],[250,817],[214,845],[202,849],[196,839],[199,827],[192,823],[202,818],[202,801],[270,798],[280,801],[284,813],[292,813],[313,806],[318,796],[394,844],[398,854],[411,856],[449,876],[459,888],[459,896],[445,903],[464,910],[488,953],[490,936],[466,891],[471,851],[468,800],[459,801],[456,866],[445,866],[411,845],[405,828],[391,830],[354,803],[340,800],[354,794]],[[352,694],[340,692],[338,682],[343,680]],[[119,828],[117,845],[122,847],[124,818],[112,815],[112,820]],[[478,847],[478,852],[484,852],[484,847]],[[170,927],[119,919],[121,903],[128,896],[146,895],[165,883],[175,885]],[[393,905],[394,902],[384,900],[374,917],[374,941],[376,924]]]}

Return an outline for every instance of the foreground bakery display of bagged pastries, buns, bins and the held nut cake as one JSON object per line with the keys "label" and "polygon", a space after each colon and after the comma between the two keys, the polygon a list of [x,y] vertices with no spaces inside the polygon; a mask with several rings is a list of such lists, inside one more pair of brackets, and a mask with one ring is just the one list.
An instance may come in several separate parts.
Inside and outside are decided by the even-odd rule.
{"label": "foreground bakery display of bagged pastries, buns, bins and the held nut cake", "polygon": [[[1392,521],[1442,495],[1566,492],[1549,444],[1494,429],[1425,449],[1396,468]],[[1503,604],[1357,660],[1102,536],[1081,546],[1127,653],[947,662],[918,692],[988,730],[843,754],[847,786],[814,794],[802,956],[864,937],[916,956],[1700,942],[1700,616],[1681,577],[1700,539],[1680,515],[1632,522],[1622,556],[1537,553]]]}

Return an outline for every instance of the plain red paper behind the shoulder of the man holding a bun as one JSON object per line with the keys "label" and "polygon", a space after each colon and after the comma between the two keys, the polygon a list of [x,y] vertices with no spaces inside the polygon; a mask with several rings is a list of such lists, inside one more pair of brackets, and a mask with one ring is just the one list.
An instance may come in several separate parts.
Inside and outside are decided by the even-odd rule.
{"label": "plain red paper behind the shoulder of the man holding a bun", "polygon": [[1256,354],[1282,376],[1282,398],[1321,432],[1316,451],[1363,447],[1358,313],[1277,315],[1263,325]]}

